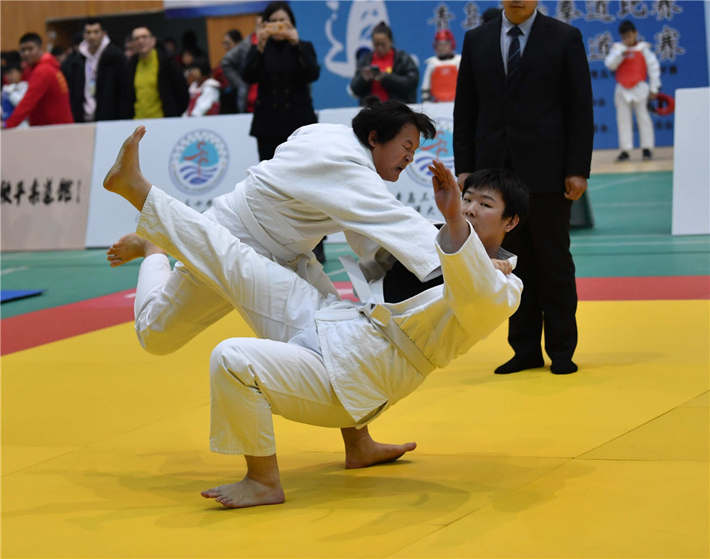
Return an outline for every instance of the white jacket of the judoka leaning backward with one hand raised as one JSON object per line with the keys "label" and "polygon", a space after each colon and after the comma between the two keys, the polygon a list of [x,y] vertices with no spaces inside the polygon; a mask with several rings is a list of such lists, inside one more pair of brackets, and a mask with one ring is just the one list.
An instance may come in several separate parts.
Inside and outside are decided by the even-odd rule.
{"label": "white jacket of the judoka leaning backward with one hand raised", "polygon": [[[437,368],[446,367],[510,318],[523,292],[520,278],[493,267],[473,227],[456,252],[447,239],[444,226],[435,241],[442,286],[400,303],[382,303],[391,311],[391,320]],[[517,261],[510,253],[499,258],[509,259],[513,266]],[[351,301],[333,303],[317,311],[315,320],[331,384],[352,418],[366,425],[415,390],[425,376],[357,306]]]}

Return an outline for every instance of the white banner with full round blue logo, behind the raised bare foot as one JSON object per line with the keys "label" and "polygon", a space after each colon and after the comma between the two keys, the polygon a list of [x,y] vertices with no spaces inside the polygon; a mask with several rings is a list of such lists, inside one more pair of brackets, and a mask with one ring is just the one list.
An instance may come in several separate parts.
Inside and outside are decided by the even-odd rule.
{"label": "white banner with full round blue logo, behind the raised bare foot", "polygon": [[259,162],[256,139],[249,136],[251,114],[99,122],[86,246],[110,246],[136,230],[138,212],[102,183],[121,144],[139,124],[146,126],[140,148],[143,176],[199,212]]}

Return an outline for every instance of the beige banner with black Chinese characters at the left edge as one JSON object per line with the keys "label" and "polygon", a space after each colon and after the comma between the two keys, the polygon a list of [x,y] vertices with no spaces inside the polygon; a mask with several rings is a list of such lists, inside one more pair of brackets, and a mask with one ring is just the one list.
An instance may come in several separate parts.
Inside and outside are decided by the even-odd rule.
{"label": "beige banner with black Chinese characters at the left edge", "polygon": [[84,249],[94,124],[4,130],[3,251]]}

